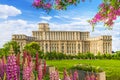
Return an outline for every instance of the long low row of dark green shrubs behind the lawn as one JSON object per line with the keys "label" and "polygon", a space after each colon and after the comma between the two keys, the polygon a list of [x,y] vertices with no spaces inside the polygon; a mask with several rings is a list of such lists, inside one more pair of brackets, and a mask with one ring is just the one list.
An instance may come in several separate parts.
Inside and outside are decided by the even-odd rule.
{"label": "long low row of dark green shrubs behind the lawn", "polygon": [[40,53],[39,57],[47,60],[61,60],[61,59],[118,59],[120,60],[120,51],[114,54],[98,53],[97,55],[94,55],[90,52],[78,53],[78,55],[67,55],[67,54],[57,53],[57,52],[47,52],[47,53]]}

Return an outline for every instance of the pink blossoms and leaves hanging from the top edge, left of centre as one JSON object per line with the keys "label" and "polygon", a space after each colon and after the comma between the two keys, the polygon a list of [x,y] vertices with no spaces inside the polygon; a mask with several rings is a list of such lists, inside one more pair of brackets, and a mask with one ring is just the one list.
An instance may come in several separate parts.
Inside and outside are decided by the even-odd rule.
{"label": "pink blossoms and leaves hanging from the top edge, left of centre", "polygon": [[85,0],[34,0],[33,6],[36,8],[41,8],[44,10],[65,10],[69,5],[76,5],[80,1],[84,2]]}

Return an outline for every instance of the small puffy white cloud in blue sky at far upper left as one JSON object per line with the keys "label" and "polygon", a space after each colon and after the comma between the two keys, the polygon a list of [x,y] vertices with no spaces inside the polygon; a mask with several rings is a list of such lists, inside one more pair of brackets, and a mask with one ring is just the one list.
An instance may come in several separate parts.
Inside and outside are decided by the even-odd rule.
{"label": "small puffy white cloud in blue sky at far upper left", "polygon": [[0,5],[0,18],[2,19],[7,19],[9,16],[16,16],[21,13],[19,9],[13,6]]}

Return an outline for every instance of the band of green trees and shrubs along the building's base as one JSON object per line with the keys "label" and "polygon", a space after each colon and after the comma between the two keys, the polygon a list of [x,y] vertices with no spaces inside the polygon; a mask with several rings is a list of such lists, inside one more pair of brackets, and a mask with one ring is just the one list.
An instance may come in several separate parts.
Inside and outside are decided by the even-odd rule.
{"label": "band of green trees and shrubs along the building's base", "polygon": [[[8,56],[10,45],[13,46],[13,50],[15,54],[21,53],[20,52],[20,46],[15,41],[7,42],[3,45],[3,48],[0,49],[0,57]],[[93,53],[86,52],[86,53],[78,53],[77,55],[73,54],[65,54],[60,52],[46,52],[44,53],[42,50],[40,50],[40,45],[37,42],[30,42],[24,46],[24,49],[22,52],[26,52],[30,54],[32,57],[36,56],[36,53],[39,53],[39,58],[46,59],[46,60],[63,60],[63,59],[117,59],[120,60],[120,51],[116,51],[115,53],[105,53],[102,54],[98,52],[97,55],[94,55]]]}

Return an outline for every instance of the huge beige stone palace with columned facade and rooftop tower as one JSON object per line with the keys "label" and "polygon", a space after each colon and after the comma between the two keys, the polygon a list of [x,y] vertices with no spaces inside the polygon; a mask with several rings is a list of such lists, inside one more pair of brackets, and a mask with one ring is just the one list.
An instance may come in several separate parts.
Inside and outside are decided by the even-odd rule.
{"label": "huge beige stone palace with columned facade and rooftop tower", "polygon": [[105,54],[112,53],[112,36],[102,35],[90,37],[90,32],[81,31],[51,31],[48,23],[39,23],[38,31],[32,31],[32,36],[24,34],[12,35],[12,40],[24,46],[30,42],[38,42],[44,52],[62,52],[77,54],[91,52]]}

